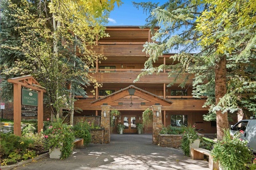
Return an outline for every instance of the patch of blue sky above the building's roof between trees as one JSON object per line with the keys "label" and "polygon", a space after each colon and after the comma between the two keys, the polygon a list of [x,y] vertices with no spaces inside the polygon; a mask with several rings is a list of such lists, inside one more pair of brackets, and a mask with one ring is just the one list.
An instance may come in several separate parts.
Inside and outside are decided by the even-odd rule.
{"label": "patch of blue sky above the building's roof between trees", "polygon": [[[133,2],[159,2],[156,0],[144,0]],[[119,7],[115,6],[114,10],[110,12],[109,23],[107,25],[144,25],[146,24],[145,19],[148,14],[143,13],[143,9],[135,8],[130,0],[122,0],[123,4]]]}

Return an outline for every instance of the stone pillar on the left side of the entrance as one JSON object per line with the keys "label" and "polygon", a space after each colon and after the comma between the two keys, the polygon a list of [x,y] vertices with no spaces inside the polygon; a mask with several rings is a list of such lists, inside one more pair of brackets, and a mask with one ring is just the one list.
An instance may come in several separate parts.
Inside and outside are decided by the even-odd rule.
{"label": "stone pillar on the left side of the entrance", "polygon": [[110,142],[110,105],[101,105],[101,128],[104,128],[104,143]]}

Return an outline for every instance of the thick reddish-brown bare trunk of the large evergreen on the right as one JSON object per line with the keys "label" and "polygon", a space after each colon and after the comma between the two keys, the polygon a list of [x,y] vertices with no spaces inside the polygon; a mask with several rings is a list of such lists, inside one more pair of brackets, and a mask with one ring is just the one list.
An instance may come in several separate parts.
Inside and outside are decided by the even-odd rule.
{"label": "thick reddish-brown bare trunk of the large evergreen on the right", "polygon": [[[215,66],[215,100],[216,105],[222,97],[226,94],[226,56],[220,58]],[[222,107],[222,106],[221,106]],[[224,129],[229,128],[228,112],[216,112],[217,122],[217,139],[222,140],[224,137]]]}

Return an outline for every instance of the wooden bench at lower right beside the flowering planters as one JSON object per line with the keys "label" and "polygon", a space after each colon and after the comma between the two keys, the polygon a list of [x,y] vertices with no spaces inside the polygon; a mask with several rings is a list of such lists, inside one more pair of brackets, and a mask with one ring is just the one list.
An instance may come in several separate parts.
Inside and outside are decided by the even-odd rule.
{"label": "wooden bench at lower right beside the flowering planters", "polygon": [[204,155],[209,156],[209,168],[218,170],[218,162],[213,162],[212,155],[210,155],[210,151],[205,150],[204,148],[190,148],[190,154],[192,159],[196,160],[204,160]]}

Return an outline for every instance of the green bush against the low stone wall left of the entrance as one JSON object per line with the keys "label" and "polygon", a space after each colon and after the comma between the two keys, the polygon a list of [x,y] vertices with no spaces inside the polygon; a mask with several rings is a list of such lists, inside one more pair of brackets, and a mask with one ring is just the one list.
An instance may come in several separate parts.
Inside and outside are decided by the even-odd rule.
{"label": "green bush against the low stone wall left of the entrance", "polygon": [[90,124],[88,124],[88,122],[77,122],[77,124],[73,126],[73,131],[76,138],[84,139],[84,145],[88,145],[92,141]]}

